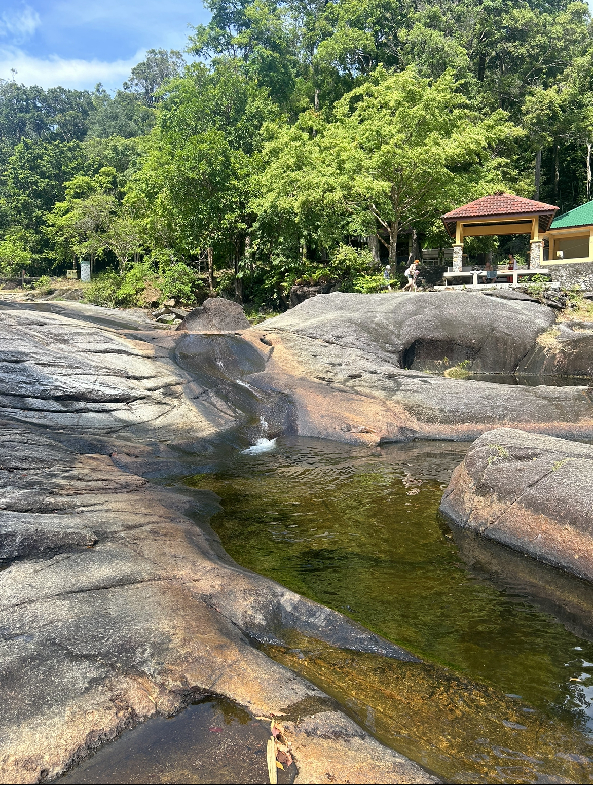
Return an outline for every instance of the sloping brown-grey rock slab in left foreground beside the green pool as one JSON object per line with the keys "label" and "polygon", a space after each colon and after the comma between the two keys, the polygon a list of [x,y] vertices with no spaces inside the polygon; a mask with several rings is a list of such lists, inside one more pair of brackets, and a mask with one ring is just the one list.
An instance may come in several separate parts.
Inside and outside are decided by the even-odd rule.
{"label": "sloping brown-grey rock slab in left foreground beside the green pool", "polygon": [[[0,469],[2,546],[12,562],[0,571],[3,783],[53,780],[124,729],[195,696],[227,696],[268,716],[328,700],[254,648],[254,637],[282,641],[300,629],[415,659],[238,567],[207,525],[220,509],[209,491],[151,486],[106,455],[80,455],[23,425],[2,423],[0,438],[3,466],[12,467]],[[328,733],[332,761],[316,743]],[[338,710],[286,735],[299,748],[297,766],[325,765],[335,782],[356,781],[371,757],[383,762],[381,781],[435,781]]]}

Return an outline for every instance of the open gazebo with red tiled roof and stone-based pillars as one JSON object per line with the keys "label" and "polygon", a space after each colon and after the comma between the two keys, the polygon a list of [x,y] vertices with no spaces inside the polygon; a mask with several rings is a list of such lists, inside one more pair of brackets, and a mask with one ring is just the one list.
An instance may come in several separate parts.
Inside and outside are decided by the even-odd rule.
{"label": "open gazebo with red tiled roof and stone-based pillars", "polygon": [[553,204],[497,193],[457,207],[441,216],[453,244],[453,272],[461,272],[465,237],[484,235],[529,235],[530,268],[541,267],[544,259],[542,236],[558,210]]}

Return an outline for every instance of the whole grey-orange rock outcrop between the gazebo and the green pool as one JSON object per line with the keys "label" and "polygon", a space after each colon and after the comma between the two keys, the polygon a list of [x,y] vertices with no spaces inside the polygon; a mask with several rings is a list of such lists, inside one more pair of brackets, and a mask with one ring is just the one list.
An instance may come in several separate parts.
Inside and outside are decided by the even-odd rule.
{"label": "whole grey-orange rock outcrop between the gazebo and the green pool", "polygon": [[318,295],[242,333],[265,352],[265,370],[243,382],[285,393],[302,436],[366,444],[470,441],[515,425],[592,438],[593,389],[503,387],[402,367],[420,351],[427,357],[431,347],[444,371],[445,356],[451,365],[470,347],[475,363],[514,370],[554,318],[537,303],[482,294]]}

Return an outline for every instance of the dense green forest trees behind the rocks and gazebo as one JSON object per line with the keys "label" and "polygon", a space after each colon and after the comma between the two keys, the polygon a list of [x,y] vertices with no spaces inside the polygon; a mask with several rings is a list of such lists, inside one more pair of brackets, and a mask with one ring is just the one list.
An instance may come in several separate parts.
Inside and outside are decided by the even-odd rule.
{"label": "dense green forest trees behind the rocks and gazebo", "polygon": [[278,308],[293,283],[372,291],[479,196],[593,198],[584,2],[206,6],[113,96],[0,81],[0,274],[86,258],[111,304],[150,281]]}

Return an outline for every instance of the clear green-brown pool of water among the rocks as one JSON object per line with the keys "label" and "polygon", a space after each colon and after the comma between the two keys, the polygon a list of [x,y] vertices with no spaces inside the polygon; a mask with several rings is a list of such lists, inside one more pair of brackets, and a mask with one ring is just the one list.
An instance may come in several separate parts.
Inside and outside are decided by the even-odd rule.
{"label": "clear green-brown pool of water among the rocks", "polygon": [[267,648],[377,738],[449,781],[591,782],[593,587],[449,528],[438,504],[466,450],[282,438],[185,483],[222,498],[238,563],[424,659]]}

